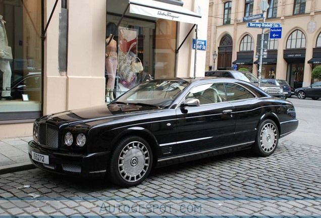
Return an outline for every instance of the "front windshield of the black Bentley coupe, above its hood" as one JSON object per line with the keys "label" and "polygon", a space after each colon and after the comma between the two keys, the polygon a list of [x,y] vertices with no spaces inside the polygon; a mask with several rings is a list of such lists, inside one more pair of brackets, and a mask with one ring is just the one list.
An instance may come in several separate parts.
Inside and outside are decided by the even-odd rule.
{"label": "front windshield of the black Bentley coupe, above its hood", "polygon": [[112,103],[137,104],[165,108],[188,86],[187,81],[152,80],[144,82],[115,99]]}

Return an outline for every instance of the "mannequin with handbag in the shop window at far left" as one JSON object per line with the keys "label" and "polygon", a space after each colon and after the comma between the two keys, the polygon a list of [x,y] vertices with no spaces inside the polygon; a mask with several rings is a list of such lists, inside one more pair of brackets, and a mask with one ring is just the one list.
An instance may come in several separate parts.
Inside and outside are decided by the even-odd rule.
{"label": "mannequin with handbag in the shop window at far left", "polygon": [[11,47],[8,46],[8,38],[5,28],[6,21],[0,15],[0,71],[3,73],[3,90],[1,100],[12,100],[11,97],[11,67],[9,61],[12,60]]}

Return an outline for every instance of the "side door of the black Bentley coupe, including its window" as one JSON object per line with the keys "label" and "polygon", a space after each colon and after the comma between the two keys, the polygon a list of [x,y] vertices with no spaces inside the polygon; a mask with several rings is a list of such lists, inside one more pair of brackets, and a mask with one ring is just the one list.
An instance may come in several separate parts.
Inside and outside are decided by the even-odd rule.
{"label": "side door of the black Bentley coupe, including its window", "polygon": [[185,99],[197,98],[199,106],[176,109],[176,154],[191,153],[230,145],[233,142],[235,118],[227,102],[223,83],[193,87]]}

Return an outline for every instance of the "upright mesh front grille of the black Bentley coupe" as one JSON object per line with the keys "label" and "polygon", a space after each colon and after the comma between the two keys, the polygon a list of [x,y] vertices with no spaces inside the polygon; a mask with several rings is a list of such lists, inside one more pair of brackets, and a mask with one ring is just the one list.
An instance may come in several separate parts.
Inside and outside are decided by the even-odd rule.
{"label": "upright mesh front grille of the black Bentley coupe", "polygon": [[58,149],[58,128],[49,124],[39,124],[39,143]]}

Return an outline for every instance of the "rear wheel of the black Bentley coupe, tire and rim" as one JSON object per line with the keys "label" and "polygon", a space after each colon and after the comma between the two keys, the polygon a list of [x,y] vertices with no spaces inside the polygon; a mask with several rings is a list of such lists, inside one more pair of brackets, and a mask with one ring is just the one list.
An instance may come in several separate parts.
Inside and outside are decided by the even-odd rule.
{"label": "rear wheel of the black Bentley coupe, tire and rim", "polygon": [[279,130],[276,123],[270,119],[263,120],[257,131],[253,151],[259,156],[270,156],[277,148]]}

